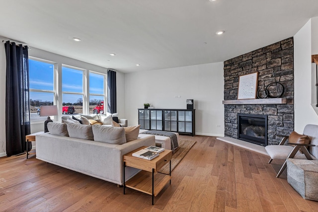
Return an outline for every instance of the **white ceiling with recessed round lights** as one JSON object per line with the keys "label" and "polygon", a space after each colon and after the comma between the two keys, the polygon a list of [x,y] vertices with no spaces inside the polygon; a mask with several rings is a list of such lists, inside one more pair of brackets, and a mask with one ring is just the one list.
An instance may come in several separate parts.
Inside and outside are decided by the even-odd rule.
{"label": "white ceiling with recessed round lights", "polygon": [[223,62],[316,16],[318,0],[0,0],[0,36],[132,72]]}

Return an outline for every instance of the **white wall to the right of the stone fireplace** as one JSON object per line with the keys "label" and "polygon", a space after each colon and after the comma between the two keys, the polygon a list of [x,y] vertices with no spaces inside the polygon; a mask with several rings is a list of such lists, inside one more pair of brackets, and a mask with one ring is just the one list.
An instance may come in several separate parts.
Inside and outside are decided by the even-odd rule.
{"label": "white wall to the right of the stone fireplace", "polygon": [[317,42],[312,42],[317,39],[317,36],[313,37],[313,34],[317,35],[317,29],[318,19],[312,18],[294,36],[294,121],[298,133],[302,133],[307,124],[318,124],[318,115],[311,105],[316,95],[313,86],[316,73],[312,73],[311,57],[318,54]]}

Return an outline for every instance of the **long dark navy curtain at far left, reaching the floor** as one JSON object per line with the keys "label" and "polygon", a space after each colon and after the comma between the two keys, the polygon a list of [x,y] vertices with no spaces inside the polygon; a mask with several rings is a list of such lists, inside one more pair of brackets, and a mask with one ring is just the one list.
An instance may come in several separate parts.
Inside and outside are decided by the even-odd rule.
{"label": "long dark navy curtain at far left, reaching the floor", "polygon": [[25,136],[30,134],[29,63],[27,46],[9,41],[4,46],[6,155],[11,156],[26,150]]}

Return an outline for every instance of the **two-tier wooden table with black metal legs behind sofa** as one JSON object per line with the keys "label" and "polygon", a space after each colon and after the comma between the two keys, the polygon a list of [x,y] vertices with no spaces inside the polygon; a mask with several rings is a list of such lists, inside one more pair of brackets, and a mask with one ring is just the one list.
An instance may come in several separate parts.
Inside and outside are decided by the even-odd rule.
{"label": "two-tier wooden table with black metal legs behind sofa", "polygon": [[[134,151],[131,151],[123,156],[124,160],[124,194],[125,188],[135,189],[137,191],[152,195],[152,204],[154,205],[154,197],[156,197],[163,187],[170,182],[171,184],[171,157],[172,151],[165,149],[159,153],[158,157],[152,160],[147,160],[135,157],[132,154],[140,149],[146,148],[142,146]],[[169,175],[157,172],[164,164],[169,162]],[[142,169],[141,172],[125,182],[125,167],[130,166]]]}

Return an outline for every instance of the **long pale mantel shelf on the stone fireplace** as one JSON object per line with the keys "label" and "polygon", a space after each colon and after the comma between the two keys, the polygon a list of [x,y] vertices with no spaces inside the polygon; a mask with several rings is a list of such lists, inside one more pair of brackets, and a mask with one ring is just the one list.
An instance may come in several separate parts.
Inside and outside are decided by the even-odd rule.
{"label": "long pale mantel shelf on the stone fireplace", "polygon": [[223,100],[222,103],[224,105],[287,104],[287,98]]}

